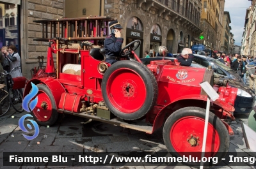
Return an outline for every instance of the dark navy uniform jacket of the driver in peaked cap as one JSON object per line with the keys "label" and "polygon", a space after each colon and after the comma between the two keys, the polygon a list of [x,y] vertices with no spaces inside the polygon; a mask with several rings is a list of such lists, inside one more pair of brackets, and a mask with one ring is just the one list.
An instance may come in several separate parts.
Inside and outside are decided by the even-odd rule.
{"label": "dark navy uniform jacket of the driver in peaked cap", "polygon": [[111,34],[107,36],[104,42],[106,57],[108,56],[118,57],[122,49],[123,41],[124,41],[123,38],[116,38],[115,34]]}

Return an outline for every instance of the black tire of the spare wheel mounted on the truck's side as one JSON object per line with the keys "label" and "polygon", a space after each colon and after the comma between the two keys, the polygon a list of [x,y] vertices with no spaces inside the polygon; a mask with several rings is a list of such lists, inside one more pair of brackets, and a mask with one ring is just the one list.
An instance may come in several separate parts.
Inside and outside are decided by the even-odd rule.
{"label": "black tire of the spare wheel mounted on the truck's side", "polygon": [[[113,73],[113,71],[116,71],[118,69],[122,68],[128,68],[131,70],[136,71],[138,75],[143,79],[144,84],[146,85],[146,99],[143,103],[143,106],[137,110],[136,112],[132,112],[131,114],[127,114],[125,112],[121,112],[117,108],[115,108],[113,105],[111,105],[111,102],[108,99],[106,84],[108,83],[108,79],[110,75]],[[127,77],[125,77],[127,78]],[[121,119],[125,120],[134,120],[134,119],[140,119],[140,117],[143,117],[143,115],[147,114],[148,111],[151,110],[154,105],[156,105],[157,101],[157,95],[158,95],[158,85],[156,78],[154,77],[153,73],[145,66],[144,64],[136,61],[118,61],[115,62],[115,64],[111,65],[106,73],[104,74],[104,77],[102,79],[102,96],[104,98],[104,101],[106,105],[108,106],[109,110],[116,115],[117,117],[120,117]]]}

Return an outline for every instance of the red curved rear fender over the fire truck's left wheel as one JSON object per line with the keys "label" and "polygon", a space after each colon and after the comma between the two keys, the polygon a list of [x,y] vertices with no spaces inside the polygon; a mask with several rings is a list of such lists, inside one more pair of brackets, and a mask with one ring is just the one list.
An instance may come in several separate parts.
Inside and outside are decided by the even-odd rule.
{"label": "red curved rear fender over the fire truck's left wheel", "polygon": [[58,104],[59,104],[60,98],[61,98],[61,94],[63,92],[65,92],[65,88],[63,87],[63,85],[61,85],[60,82],[58,82],[58,80],[56,80],[54,78],[40,78],[40,79],[34,78],[32,80],[29,80],[29,82],[26,85],[25,90],[24,90],[24,97],[27,96],[27,94],[29,94],[29,92],[32,89],[31,82],[35,85],[37,85],[37,84],[47,85],[47,87],[50,89],[50,91],[52,93],[55,104],[58,107]]}

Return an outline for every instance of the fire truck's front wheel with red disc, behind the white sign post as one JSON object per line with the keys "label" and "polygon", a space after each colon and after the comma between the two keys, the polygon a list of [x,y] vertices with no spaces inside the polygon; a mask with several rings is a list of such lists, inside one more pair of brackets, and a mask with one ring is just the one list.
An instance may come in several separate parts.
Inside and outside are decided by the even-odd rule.
{"label": "fire truck's front wheel with red disc, behind the white sign post", "polygon": [[[180,108],[175,111],[164,124],[164,143],[173,156],[191,155],[201,159],[204,138],[205,109],[198,107]],[[210,112],[207,130],[205,157],[225,158],[229,148],[227,128],[221,120]],[[214,161],[207,161],[204,165],[216,165]],[[200,165],[200,163],[186,163],[186,165]]]}

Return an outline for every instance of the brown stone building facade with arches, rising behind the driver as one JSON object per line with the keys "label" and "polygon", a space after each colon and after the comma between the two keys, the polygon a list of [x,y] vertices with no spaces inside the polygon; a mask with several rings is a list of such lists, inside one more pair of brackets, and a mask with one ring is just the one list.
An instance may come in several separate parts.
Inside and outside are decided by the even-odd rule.
{"label": "brown stone building facade with arches, rising behind the driver", "polygon": [[[140,40],[143,41],[140,55],[143,55],[145,50],[152,52],[153,56],[156,55],[159,45],[166,46],[168,52],[175,54],[181,52],[184,47],[191,48],[191,45],[198,44],[199,34],[202,33],[199,22],[202,10],[201,1],[182,0],[177,2],[170,0],[147,2],[106,0],[104,15],[117,19],[124,27],[122,30],[124,44],[137,39],[129,34],[131,34],[133,17],[139,20],[140,31],[143,32],[143,37],[140,37]],[[154,43],[151,35],[154,26],[159,29],[159,43],[157,44]]]}

